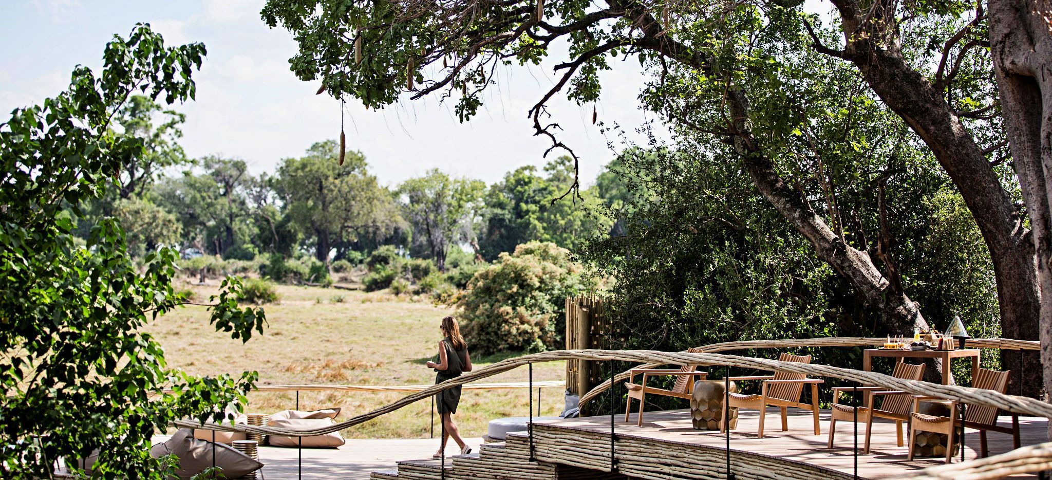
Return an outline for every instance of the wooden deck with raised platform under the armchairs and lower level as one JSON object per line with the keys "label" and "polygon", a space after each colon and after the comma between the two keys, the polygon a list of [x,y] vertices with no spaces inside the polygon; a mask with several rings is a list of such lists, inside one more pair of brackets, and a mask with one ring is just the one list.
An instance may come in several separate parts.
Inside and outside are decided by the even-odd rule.
{"label": "wooden deck with raised platform under the armchairs and lower level", "polygon": [[[731,433],[731,464],[737,479],[849,479],[852,478],[852,424],[838,422],[835,448],[826,448],[829,413],[822,413],[821,436],[811,435],[810,413],[790,408],[789,431],[781,431],[776,408],[768,411],[768,428],[756,438],[758,413],[743,411],[739,427]],[[539,421],[534,427],[534,457],[529,462],[529,442],[525,433],[509,436],[508,441],[480,445],[468,443],[476,453],[446,458],[449,480],[566,480],[566,479],[721,479],[725,476],[725,438],[719,432],[695,431],[686,409],[648,412],[643,426],[635,426],[635,414],[628,422],[615,417],[615,456],[618,475],[610,466],[610,417],[586,417]],[[1007,424],[1008,418],[1003,418]],[[1023,444],[1046,439],[1047,420],[1020,418]],[[858,477],[883,479],[906,472],[942,464],[939,459],[906,460],[907,447],[895,445],[894,424],[877,421],[872,452],[858,456]],[[865,425],[858,428],[859,448]],[[990,453],[996,455],[1012,447],[1008,435],[990,433]],[[383,479],[438,480],[438,460],[430,455],[437,439],[348,440],[340,448],[304,448],[302,477],[298,473],[296,448],[261,447],[265,464],[262,479]],[[966,459],[975,458],[978,433],[967,436]],[[449,447],[453,451],[453,446]],[[414,460],[416,459],[416,460]],[[955,460],[959,459],[959,455]],[[1013,477],[1035,478],[1035,477]]]}

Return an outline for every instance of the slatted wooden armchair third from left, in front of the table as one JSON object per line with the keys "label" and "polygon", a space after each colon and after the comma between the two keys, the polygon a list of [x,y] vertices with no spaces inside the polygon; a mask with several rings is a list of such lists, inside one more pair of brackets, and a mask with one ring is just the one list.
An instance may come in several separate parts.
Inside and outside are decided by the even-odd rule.
{"label": "slatted wooden armchair third from left, in front of the table", "polygon": [[[899,362],[895,364],[895,369],[891,373],[891,376],[906,380],[920,380],[924,378],[924,367],[925,365],[923,364],[912,365]],[[839,394],[842,392],[850,394],[853,388],[855,387],[837,386],[833,388],[833,405],[830,409],[829,419],[830,448],[833,447],[833,435],[836,433],[836,421],[844,420],[851,422],[855,420],[855,407],[845,405],[839,402]],[[912,396],[906,392],[885,391],[884,387],[881,386],[859,386],[857,388],[858,393],[861,393],[863,397],[862,406],[857,408],[858,421],[866,422],[866,447],[863,448],[863,454],[869,454],[869,437],[873,429],[873,417],[894,420],[898,446],[903,446],[903,422],[907,422],[910,419],[910,407],[913,403]],[[874,405],[874,397],[882,397],[884,399],[879,408]]]}

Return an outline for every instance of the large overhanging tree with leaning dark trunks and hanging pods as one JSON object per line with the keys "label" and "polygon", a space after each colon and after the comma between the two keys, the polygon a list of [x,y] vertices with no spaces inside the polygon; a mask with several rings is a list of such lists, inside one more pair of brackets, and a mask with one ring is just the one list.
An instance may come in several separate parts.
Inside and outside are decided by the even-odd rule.
{"label": "large overhanging tree with leaning dark trunks and hanging pods", "polygon": [[[839,186],[820,166],[823,156],[842,152],[837,147],[861,153],[898,144],[869,133],[865,139],[847,138],[854,121],[866,118],[857,107],[879,100],[875,109],[909,131],[904,142],[937,160],[975,219],[994,265],[1005,335],[1036,339],[1034,248],[1020,227],[1027,222],[1014,202],[1013,175],[1005,172],[1007,145],[994,106],[990,54],[974,40],[986,27],[983,8],[962,2],[830,0],[839,21],[827,26],[804,12],[803,3],[522,0],[480,11],[466,0],[409,5],[321,0],[311,7],[269,0],[262,16],[300,43],[290,64],[301,79],[321,78],[332,95],[350,94],[371,107],[399,101],[403,85],[414,99],[442,95],[456,99],[462,121],[478,112],[485,88],[498,83],[497,65],[512,57],[540,64],[551,45],[568,41],[569,58],[555,67],[558,80],[529,115],[534,135],[548,138],[552,149],[566,149],[574,162],[558,138],[559,123],[547,119],[548,101],[560,92],[580,103],[598,100],[598,73],[610,68],[609,56],[635,56],[653,73],[641,96],[647,107],[677,127],[732,146],[724,152],[867,301],[882,329],[902,332],[927,322],[895,280],[897,260],[888,249],[894,242],[885,237],[882,256],[873,257],[867,255],[868,241],[845,235],[853,219],[838,217]],[[811,99],[826,101],[812,105]],[[816,122],[824,124],[813,127]],[[797,168],[802,165],[807,169]],[[809,197],[801,184],[823,193]],[[1013,365],[1020,355],[1005,354]],[[1037,371],[1035,364],[1015,369]],[[1029,395],[1037,395],[1034,380],[1023,379]]]}

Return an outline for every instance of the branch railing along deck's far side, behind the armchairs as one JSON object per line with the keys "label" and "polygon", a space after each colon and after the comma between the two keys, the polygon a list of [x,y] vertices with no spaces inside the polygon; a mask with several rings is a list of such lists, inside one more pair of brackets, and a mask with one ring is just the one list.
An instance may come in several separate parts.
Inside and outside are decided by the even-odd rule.
{"label": "branch railing along deck's far side, behind the armchairs", "polygon": [[[750,349],[750,348],[787,348],[787,347],[812,347],[812,346],[874,346],[883,345],[886,338],[868,338],[868,337],[823,337],[823,338],[804,338],[804,339],[785,339],[785,340],[747,340],[739,342],[723,342],[723,343],[712,343],[710,345],[701,346],[700,349],[703,353],[717,353],[727,352],[735,349]],[[972,338],[965,342],[965,346],[972,348],[997,348],[997,349],[1028,349],[1036,351],[1040,349],[1040,343],[1032,340],[1015,340],[1011,338]],[[644,365],[639,365],[635,368],[656,368],[665,363],[647,363]],[[614,376],[614,382],[624,381],[628,379],[628,371],[622,372]],[[589,400],[595,398],[596,395],[605,392],[610,387],[610,380],[606,380],[599,385],[592,387],[586,394],[581,396],[581,405],[584,405]]]}

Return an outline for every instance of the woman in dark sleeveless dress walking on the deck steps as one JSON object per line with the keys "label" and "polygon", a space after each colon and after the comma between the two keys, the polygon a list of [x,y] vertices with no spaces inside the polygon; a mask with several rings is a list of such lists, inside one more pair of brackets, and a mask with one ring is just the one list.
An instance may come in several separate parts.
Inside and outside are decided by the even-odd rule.
{"label": "woman in dark sleeveless dress walking on the deck steps", "polygon": [[[442,340],[439,340],[439,362],[427,362],[427,367],[434,368],[437,372],[434,383],[442,383],[451,378],[460,377],[464,372],[471,372],[471,355],[467,353],[467,342],[460,334],[457,319],[452,317],[442,319]],[[460,403],[460,393],[461,386],[457,385],[437,395],[434,403],[439,405],[439,416],[445,428],[442,433],[442,444],[439,446],[439,452],[431,458],[441,458],[444,455],[446,440],[449,437],[452,437],[457,445],[460,446],[461,455],[471,453],[471,447],[464,443],[452,418],[452,414],[457,413],[457,404]]]}

